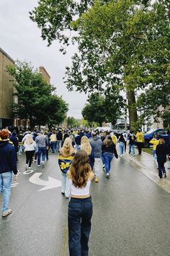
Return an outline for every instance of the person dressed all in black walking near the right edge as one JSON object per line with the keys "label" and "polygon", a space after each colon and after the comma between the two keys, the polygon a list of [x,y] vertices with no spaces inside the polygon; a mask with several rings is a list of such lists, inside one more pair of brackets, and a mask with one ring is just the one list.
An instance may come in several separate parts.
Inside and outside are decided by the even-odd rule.
{"label": "person dressed all in black walking near the right edge", "polygon": [[164,174],[164,178],[166,178],[166,170],[164,163],[166,163],[166,155],[168,154],[168,147],[165,144],[164,139],[160,139],[158,141],[158,145],[156,147],[156,155],[158,161],[158,176],[162,179],[162,174]]}

